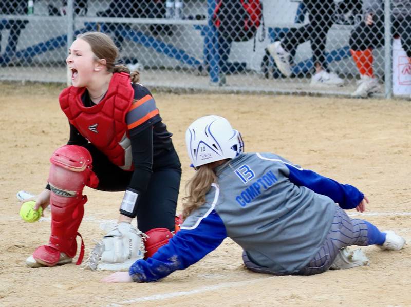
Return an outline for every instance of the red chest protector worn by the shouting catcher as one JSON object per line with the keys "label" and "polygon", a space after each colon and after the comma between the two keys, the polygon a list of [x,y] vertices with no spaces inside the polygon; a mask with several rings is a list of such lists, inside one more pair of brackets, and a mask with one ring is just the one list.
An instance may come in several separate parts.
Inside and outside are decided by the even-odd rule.
{"label": "red chest protector worn by the shouting catcher", "polygon": [[81,100],[86,88],[70,86],[59,97],[60,106],[70,124],[115,165],[133,170],[130,139],[125,116],[134,98],[134,89],[126,73],[114,73],[102,101],[85,107]]}

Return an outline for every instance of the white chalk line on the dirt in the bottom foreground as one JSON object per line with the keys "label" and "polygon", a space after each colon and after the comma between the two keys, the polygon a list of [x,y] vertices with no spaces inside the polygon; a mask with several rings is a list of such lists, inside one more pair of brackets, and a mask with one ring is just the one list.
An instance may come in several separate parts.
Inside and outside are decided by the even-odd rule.
{"label": "white chalk line on the dirt in the bottom foreground", "polygon": [[261,280],[267,279],[267,278],[272,278],[272,276],[253,279],[253,280],[246,280],[246,281],[220,283],[220,284],[217,284],[217,285],[208,286],[208,287],[201,287],[201,288],[193,289],[193,290],[190,290],[190,291],[178,291],[178,292],[170,292],[170,293],[163,293],[163,294],[155,294],[155,295],[151,295],[151,296],[137,297],[137,298],[133,298],[133,299],[127,299],[127,300],[124,300],[124,301],[121,301],[121,302],[118,302],[118,303],[109,304],[107,306],[108,307],[121,307],[125,304],[128,305],[128,304],[134,304],[134,303],[138,303],[138,302],[164,300],[164,299],[183,296],[183,295],[193,295],[193,294],[207,292],[207,291],[213,291],[213,290],[217,290],[217,289],[224,289],[224,288],[229,288],[229,287],[249,285],[249,284],[253,284],[253,283],[259,282]]}

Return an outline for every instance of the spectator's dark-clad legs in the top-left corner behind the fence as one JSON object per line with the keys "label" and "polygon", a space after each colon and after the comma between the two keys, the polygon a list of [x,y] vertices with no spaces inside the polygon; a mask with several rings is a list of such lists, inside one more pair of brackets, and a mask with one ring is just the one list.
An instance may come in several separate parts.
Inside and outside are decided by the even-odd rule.
{"label": "spectator's dark-clad legs in the top-left corner behind the fence", "polygon": [[[0,1],[0,13],[5,15],[26,15],[27,14],[27,0],[9,0]],[[0,54],[2,30],[10,30],[7,46],[4,54],[0,55],[0,65],[6,66],[13,64],[13,57],[16,53],[18,39],[22,29],[26,27],[27,20],[0,20]]]}

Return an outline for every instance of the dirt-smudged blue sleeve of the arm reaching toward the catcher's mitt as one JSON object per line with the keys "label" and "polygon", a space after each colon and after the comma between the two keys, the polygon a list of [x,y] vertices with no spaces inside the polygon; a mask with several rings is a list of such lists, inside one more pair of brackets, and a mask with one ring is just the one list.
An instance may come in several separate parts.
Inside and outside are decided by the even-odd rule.
{"label": "dirt-smudged blue sleeve of the arm reaching toward the catcher's mitt", "polygon": [[137,260],[128,273],[137,282],[159,280],[196,263],[214,251],[226,237],[226,227],[213,210],[195,228],[182,228],[178,231],[153,257]]}

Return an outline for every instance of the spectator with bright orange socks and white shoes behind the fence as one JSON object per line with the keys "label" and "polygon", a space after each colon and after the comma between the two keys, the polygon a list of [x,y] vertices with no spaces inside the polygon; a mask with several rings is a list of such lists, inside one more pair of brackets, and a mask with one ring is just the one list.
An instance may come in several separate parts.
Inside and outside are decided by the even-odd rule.
{"label": "spectator with bright orange socks and white shoes behind the fence", "polygon": [[[383,4],[383,0],[364,0],[364,21],[351,32],[350,51],[361,76],[357,90],[352,93],[355,97],[367,97],[380,88],[372,67],[372,50],[384,45]],[[392,5],[391,33],[401,37],[402,47],[411,57],[411,1],[393,0]]]}

